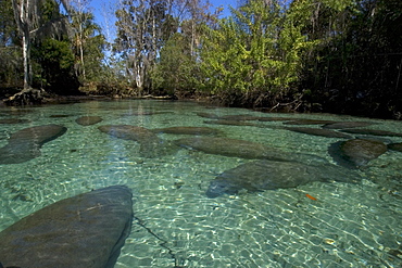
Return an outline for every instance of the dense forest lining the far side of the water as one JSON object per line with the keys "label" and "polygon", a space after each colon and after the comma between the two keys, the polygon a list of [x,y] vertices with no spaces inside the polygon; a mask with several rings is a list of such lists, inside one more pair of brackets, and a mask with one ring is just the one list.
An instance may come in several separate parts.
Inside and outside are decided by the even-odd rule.
{"label": "dense forest lining the far side of the water", "polygon": [[401,0],[116,3],[108,42],[85,0],[1,0],[0,90],[203,98],[402,119]]}

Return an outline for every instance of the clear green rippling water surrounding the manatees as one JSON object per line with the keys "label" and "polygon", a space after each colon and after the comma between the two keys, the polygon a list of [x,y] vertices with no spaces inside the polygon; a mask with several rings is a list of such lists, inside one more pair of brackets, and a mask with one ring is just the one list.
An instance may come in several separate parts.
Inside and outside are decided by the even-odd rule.
{"label": "clear green rippling water surrounding the manatees", "polygon": [[[46,143],[41,156],[0,166],[0,230],[55,201],[112,184],[133,189],[133,231],[117,260],[123,267],[401,267],[402,153],[387,152],[361,171],[357,184],[313,182],[208,199],[216,174],[247,159],[179,150],[156,158],[138,156],[134,141],[98,130],[104,124],[146,128],[208,126],[229,138],[315,154],[334,163],[327,148],[337,141],[287,130],[206,125],[198,112],[297,118],[372,120],[335,115],[263,114],[239,109],[206,109],[163,101],[86,102],[0,110],[0,118],[30,123],[0,125],[0,146],[23,128],[60,124],[67,132]],[[14,111],[10,115],[10,111]],[[168,112],[138,116],[141,112]],[[71,115],[51,118],[50,115]],[[83,127],[75,119],[99,115]],[[374,129],[402,132],[402,123],[374,120]],[[276,126],[280,122],[255,123]],[[163,139],[183,136],[160,135]],[[402,138],[382,139],[401,142]],[[177,187],[177,184],[181,187]],[[309,193],[317,199],[310,200]]]}

